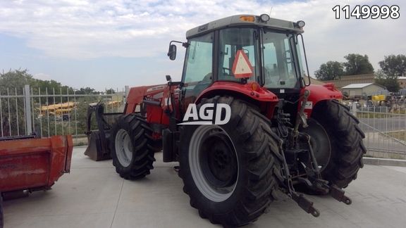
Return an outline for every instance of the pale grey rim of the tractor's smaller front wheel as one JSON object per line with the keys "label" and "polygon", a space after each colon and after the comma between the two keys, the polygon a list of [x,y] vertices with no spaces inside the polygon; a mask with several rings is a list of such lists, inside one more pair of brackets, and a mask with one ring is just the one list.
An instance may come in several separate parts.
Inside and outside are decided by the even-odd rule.
{"label": "pale grey rim of the tractor's smaller front wheel", "polygon": [[125,129],[118,130],[115,144],[118,161],[123,167],[128,167],[133,159],[133,144],[131,144],[130,135]]}

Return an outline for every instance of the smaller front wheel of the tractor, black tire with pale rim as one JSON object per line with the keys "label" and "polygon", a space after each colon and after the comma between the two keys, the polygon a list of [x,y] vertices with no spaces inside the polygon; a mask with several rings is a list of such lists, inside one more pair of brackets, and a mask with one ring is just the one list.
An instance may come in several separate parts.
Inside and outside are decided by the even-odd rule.
{"label": "smaller front wheel of the tractor, black tire with pale rim", "polygon": [[144,118],[123,115],[111,129],[111,158],[116,172],[125,179],[141,179],[154,167],[152,129]]}

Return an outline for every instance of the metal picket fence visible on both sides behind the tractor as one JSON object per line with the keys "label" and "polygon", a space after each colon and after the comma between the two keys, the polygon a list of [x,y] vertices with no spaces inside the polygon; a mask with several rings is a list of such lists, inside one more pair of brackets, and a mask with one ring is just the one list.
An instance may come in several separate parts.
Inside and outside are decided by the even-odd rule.
{"label": "metal picket fence visible on both sides behind the tractor", "polygon": [[[57,134],[82,135],[86,131],[87,107],[103,101],[106,113],[123,112],[128,87],[115,94],[76,94],[69,90],[8,88],[0,91],[0,137]],[[365,133],[368,151],[406,154],[406,101],[392,106],[347,103]]]}

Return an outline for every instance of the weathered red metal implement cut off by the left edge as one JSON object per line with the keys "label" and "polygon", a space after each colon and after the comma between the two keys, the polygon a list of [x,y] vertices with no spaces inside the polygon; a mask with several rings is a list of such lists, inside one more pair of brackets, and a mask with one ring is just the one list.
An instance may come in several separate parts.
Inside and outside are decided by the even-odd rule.
{"label": "weathered red metal implement cut off by the left edge", "polygon": [[0,141],[0,192],[46,190],[70,171],[70,135]]}

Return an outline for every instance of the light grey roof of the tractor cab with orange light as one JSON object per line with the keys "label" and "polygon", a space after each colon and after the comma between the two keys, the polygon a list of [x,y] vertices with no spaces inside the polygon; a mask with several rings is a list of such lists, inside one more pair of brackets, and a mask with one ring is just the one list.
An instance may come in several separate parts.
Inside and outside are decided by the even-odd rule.
{"label": "light grey roof of the tractor cab with orange light", "polygon": [[[253,17],[254,21],[242,20],[244,17]],[[233,15],[227,18],[221,18],[219,20],[214,20],[210,23],[200,25],[198,27],[192,28],[186,32],[186,38],[195,37],[198,34],[204,34],[211,32],[213,30],[219,30],[224,27],[238,27],[238,26],[254,25],[257,27],[267,27],[274,30],[283,30],[288,32],[293,32],[295,34],[303,33],[301,27],[298,27],[296,23],[288,20],[280,20],[276,18],[269,18],[268,21],[264,22],[259,18],[259,15]]]}

